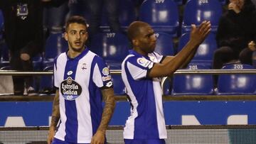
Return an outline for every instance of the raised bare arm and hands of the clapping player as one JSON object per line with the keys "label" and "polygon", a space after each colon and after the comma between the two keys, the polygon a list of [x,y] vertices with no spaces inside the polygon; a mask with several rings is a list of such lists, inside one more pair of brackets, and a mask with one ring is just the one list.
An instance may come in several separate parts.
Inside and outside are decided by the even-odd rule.
{"label": "raised bare arm and hands of the clapping player", "polygon": [[149,77],[171,76],[178,68],[186,66],[196,53],[198,45],[205,40],[208,33],[210,33],[210,21],[203,21],[198,28],[192,25],[191,38],[181,52],[162,63],[154,64],[149,72]]}

